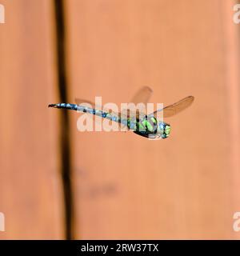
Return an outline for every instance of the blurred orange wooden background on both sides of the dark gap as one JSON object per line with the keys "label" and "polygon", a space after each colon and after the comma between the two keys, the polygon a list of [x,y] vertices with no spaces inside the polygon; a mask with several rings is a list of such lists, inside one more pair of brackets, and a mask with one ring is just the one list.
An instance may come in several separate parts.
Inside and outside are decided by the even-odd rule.
{"label": "blurred orange wooden background on both sides of the dark gap", "polygon": [[[70,115],[72,238],[238,239],[239,28],[232,0],[66,0],[74,98],[168,105],[170,138],[77,130]],[[54,3],[1,0],[0,239],[66,237]],[[62,123],[62,126],[65,124]]]}

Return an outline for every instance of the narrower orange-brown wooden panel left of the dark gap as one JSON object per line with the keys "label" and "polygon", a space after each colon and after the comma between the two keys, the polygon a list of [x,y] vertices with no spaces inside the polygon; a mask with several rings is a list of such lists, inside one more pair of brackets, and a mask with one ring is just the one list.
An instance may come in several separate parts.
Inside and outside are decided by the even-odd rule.
{"label": "narrower orange-brown wooden panel left of the dark gap", "polygon": [[63,238],[51,2],[1,3],[0,238]]}

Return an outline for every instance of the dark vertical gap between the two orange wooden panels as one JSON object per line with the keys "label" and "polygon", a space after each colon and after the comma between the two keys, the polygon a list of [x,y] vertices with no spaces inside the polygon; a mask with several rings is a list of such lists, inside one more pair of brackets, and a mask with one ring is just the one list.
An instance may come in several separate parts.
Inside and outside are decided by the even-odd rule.
{"label": "dark vertical gap between the two orange wooden panels", "polygon": [[[58,91],[60,102],[68,102],[66,78],[66,21],[64,0],[54,0]],[[71,184],[70,120],[66,110],[60,111],[60,156],[65,211],[65,237],[74,239],[74,198]]]}

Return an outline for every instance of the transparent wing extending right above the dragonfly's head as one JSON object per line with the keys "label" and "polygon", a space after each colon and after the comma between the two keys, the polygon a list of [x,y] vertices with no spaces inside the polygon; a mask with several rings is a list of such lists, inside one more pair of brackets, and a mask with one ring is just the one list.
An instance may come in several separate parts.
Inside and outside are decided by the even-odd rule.
{"label": "transparent wing extending right above the dragonfly's head", "polygon": [[163,111],[164,118],[170,118],[175,114],[182,112],[187,107],[189,107],[194,102],[194,96],[188,96],[186,98],[182,98],[179,102],[175,102],[170,106],[166,106],[161,110],[154,111],[154,115],[158,114],[159,111]]}

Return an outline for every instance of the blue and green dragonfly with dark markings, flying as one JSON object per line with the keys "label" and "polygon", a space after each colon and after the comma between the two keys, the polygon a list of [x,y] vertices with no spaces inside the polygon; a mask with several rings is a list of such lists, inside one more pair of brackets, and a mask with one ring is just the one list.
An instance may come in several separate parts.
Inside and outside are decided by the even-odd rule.
{"label": "blue and green dragonfly with dark markings, flying", "polygon": [[[152,94],[153,90],[149,86],[143,86],[130,102],[134,103],[135,106],[139,106],[138,103],[143,103],[140,106],[146,106]],[[128,108],[121,112],[114,112],[109,109],[103,109],[102,106],[96,106],[94,102],[90,102],[89,100],[76,98],[75,101],[77,104],[57,103],[50,104],[49,107],[94,114],[101,118],[107,118],[112,122],[117,122],[119,126],[125,126],[126,130],[131,130],[134,134],[157,140],[168,138],[171,131],[170,124],[163,122],[162,118],[158,118],[158,114],[162,114],[163,118],[170,118],[182,112],[182,110],[186,110],[194,102],[194,96],[182,98],[180,101],[155,110],[151,114],[146,114],[145,110],[142,110],[142,107],[138,107],[135,110]],[[86,103],[90,104],[91,107],[86,106]]]}

